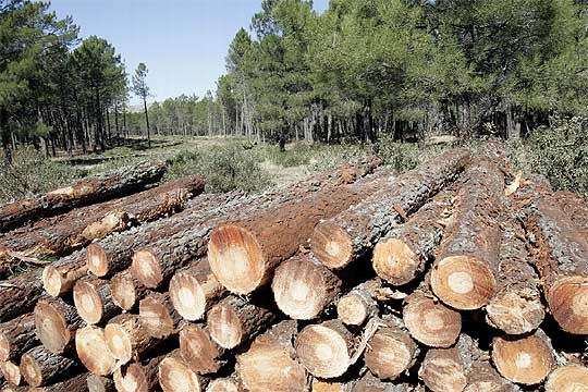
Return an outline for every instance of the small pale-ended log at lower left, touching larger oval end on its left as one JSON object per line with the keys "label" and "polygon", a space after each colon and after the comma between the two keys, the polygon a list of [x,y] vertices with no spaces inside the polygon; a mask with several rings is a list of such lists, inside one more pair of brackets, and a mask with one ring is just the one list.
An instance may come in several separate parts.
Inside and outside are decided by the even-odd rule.
{"label": "small pale-ended log at lower left, touching larger oval end on its left", "polygon": [[121,364],[138,360],[140,354],[151,350],[159,342],[149,334],[136,315],[114,317],[105,328],[105,342],[111,355]]}

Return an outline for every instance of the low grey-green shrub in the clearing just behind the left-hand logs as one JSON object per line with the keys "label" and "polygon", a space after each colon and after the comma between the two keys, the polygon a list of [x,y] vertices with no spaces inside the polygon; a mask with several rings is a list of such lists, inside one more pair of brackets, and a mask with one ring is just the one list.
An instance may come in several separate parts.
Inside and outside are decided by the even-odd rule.
{"label": "low grey-green shrub in the clearing just behind the left-hand logs", "polygon": [[253,150],[238,144],[217,146],[206,150],[183,150],[168,160],[171,179],[200,174],[206,179],[207,192],[240,189],[254,193],[271,184],[269,176],[259,167]]}

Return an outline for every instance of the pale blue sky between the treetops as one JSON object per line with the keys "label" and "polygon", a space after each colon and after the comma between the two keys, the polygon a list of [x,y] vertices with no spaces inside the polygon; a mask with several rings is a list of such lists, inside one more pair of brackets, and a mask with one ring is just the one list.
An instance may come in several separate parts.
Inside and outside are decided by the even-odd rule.
{"label": "pale blue sky between the treetops", "polygon": [[[51,0],[58,16],[72,15],[81,36],[106,38],[127,72],[149,69],[152,100],[203,96],[224,73],[226,48],[248,29],[261,0]],[[315,0],[322,12],[328,0]],[[132,103],[137,100],[133,99]]]}

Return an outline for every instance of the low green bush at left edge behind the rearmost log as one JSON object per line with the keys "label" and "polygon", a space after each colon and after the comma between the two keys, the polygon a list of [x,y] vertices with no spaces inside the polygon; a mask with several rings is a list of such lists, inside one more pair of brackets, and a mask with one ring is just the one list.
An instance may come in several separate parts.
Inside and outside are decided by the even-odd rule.
{"label": "low green bush at left edge behind the rearmost log", "polygon": [[12,164],[0,163],[0,203],[46,193],[72,183],[87,173],[53,162],[32,147],[19,148]]}

